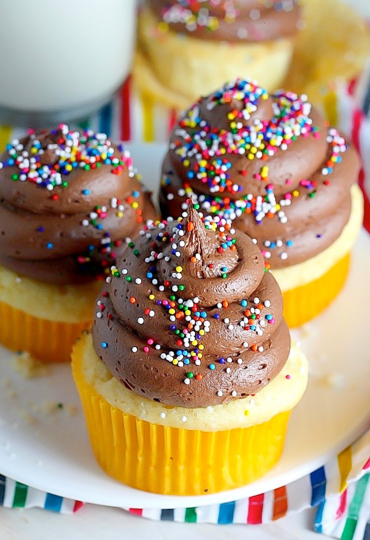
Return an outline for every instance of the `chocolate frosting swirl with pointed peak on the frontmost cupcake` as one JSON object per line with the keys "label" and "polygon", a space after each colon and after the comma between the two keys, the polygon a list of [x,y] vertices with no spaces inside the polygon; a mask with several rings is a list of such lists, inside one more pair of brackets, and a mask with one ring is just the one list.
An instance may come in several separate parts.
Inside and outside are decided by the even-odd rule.
{"label": "chocolate frosting swirl with pointed peak on the frontmost cupcake", "polygon": [[244,233],[218,229],[190,204],[146,230],[112,268],[93,345],[132,392],[206,407],[255,394],[284,366],[282,297]]}

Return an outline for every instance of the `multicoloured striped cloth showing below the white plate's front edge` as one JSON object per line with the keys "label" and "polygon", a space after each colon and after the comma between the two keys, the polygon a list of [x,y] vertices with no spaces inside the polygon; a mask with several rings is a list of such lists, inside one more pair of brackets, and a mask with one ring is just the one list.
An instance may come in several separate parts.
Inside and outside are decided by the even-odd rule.
{"label": "multicoloured striped cloth showing below the white plate's front edge", "polygon": [[[292,512],[317,507],[315,530],[342,540],[370,539],[370,432],[311,474],[239,501],[191,508],[130,508],[131,514],[155,521],[213,524],[260,524]],[[83,503],[46,494],[0,476],[0,505],[41,507],[62,514]]]}

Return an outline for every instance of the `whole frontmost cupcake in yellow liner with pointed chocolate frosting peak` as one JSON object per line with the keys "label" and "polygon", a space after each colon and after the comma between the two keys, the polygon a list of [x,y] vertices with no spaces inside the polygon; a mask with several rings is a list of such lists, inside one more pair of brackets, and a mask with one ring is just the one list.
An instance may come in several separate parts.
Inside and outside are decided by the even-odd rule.
{"label": "whole frontmost cupcake in yellow liner with pointed chocolate frosting peak", "polygon": [[176,495],[265,474],[307,384],[260,250],[192,205],[126,247],[72,371],[106,473]]}

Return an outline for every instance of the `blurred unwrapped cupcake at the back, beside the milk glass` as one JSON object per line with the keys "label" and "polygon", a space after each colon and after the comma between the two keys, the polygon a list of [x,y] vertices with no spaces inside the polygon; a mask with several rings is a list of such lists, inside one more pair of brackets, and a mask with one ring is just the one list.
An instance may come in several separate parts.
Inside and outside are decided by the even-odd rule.
{"label": "blurred unwrapped cupcake at the back, beside the milk glass", "polygon": [[273,90],[301,27],[295,0],[148,0],[139,13],[134,75],[143,92],[179,109],[236,73]]}

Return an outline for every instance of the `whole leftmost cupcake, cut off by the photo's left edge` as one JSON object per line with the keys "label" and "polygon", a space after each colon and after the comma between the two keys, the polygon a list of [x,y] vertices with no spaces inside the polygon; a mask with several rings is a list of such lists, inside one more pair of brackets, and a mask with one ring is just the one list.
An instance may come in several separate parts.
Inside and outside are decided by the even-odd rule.
{"label": "whole leftmost cupcake, cut off by the photo's left edge", "polygon": [[149,195],[122,146],[60,125],[6,146],[0,201],[0,342],[68,361],[126,237],[154,217]]}

